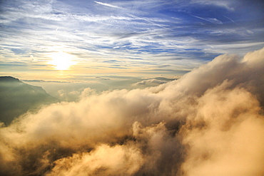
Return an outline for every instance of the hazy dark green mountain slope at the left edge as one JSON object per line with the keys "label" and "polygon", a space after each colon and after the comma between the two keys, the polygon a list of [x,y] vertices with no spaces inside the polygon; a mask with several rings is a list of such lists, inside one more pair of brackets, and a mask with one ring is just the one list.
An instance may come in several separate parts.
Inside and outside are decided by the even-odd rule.
{"label": "hazy dark green mountain slope at the left edge", "polygon": [[0,76],[0,121],[6,125],[28,110],[56,102],[56,98],[39,86],[31,86],[11,76]]}

